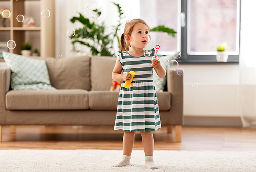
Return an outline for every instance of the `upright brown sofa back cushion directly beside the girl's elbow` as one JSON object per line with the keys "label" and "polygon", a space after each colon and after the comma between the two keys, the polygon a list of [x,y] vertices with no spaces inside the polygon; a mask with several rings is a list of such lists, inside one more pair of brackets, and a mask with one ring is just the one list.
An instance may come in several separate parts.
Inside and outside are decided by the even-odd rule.
{"label": "upright brown sofa back cushion directly beside the girl's elbow", "polygon": [[91,90],[110,89],[115,63],[114,57],[91,57]]}

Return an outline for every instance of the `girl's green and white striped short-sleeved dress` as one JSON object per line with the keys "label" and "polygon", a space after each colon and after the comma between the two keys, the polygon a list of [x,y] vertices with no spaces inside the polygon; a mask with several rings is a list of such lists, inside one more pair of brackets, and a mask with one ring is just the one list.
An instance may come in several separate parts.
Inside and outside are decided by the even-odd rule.
{"label": "girl's green and white striped short-sleeved dress", "polygon": [[150,56],[134,57],[118,51],[117,57],[123,73],[134,71],[129,89],[122,82],[114,130],[155,131],[161,128],[156,89],[152,80],[151,58],[155,49],[147,50]]}

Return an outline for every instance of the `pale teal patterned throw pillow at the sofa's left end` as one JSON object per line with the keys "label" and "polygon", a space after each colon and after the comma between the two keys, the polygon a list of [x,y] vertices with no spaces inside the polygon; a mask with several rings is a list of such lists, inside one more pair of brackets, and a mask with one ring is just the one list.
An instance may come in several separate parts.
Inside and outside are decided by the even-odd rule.
{"label": "pale teal patterned throw pillow at the sofa's left end", "polygon": [[11,69],[13,90],[56,90],[50,84],[45,60],[31,59],[7,52],[3,52],[3,56]]}

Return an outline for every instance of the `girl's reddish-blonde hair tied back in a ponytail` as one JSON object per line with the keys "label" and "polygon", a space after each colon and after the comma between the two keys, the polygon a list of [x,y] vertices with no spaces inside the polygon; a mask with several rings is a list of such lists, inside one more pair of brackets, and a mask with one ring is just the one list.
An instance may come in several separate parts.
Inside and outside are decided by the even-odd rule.
{"label": "girl's reddish-blonde hair tied back in a ponytail", "polygon": [[125,36],[126,35],[131,35],[132,31],[133,31],[133,27],[134,25],[136,25],[137,23],[143,23],[148,27],[148,32],[150,31],[150,27],[147,25],[147,23],[143,20],[143,19],[133,19],[130,22],[126,22],[125,26],[124,26],[124,32],[122,33],[121,37],[120,37],[120,51],[129,51],[129,47],[131,47],[131,45],[129,44],[129,42],[126,41]]}

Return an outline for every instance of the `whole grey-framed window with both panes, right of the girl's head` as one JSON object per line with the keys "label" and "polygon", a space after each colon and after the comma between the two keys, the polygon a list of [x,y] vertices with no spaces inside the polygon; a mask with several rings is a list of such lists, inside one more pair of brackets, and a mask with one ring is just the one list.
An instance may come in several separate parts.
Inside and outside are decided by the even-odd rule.
{"label": "whole grey-framed window with both panes, right of the girl's head", "polygon": [[240,0],[142,0],[141,18],[151,28],[165,25],[177,31],[175,38],[151,32],[148,46],[159,44],[159,55],[180,50],[178,62],[215,63],[217,44],[226,42],[228,62],[238,63],[240,6]]}

